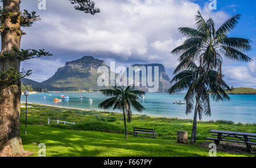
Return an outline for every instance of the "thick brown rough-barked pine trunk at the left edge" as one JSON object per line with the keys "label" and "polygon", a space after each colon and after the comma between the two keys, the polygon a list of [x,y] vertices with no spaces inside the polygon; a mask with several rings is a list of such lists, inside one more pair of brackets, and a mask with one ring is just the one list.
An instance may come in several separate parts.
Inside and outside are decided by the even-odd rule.
{"label": "thick brown rough-barked pine trunk at the left edge", "polygon": [[[20,0],[4,0],[3,8],[11,14],[18,14]],[[1,53],[12,53],[13,48],[20,49],[20,21],[14,23],[10,18],[2,21],[5,31],[1,32]],[[1,71],[9,68],[20,70],[20,60],[16,58],[0,61]],[[0,86],[0,156],[19,156],[24,150],[20,138],[20,81],[11,86]]]}

